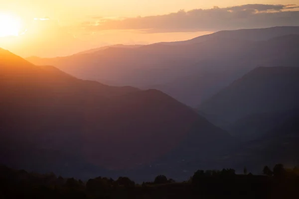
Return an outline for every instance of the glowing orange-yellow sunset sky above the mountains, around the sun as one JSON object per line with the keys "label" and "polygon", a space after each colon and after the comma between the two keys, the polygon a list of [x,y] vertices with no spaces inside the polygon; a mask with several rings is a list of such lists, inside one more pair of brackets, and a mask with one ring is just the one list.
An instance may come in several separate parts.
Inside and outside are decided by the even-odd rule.
{"label": "glowing orange-yellow sunset sky above the mountains, around the sun", "polygon": [[23,57],[299,25],[299,0],[0,0],[0,5],[0,20],[3,13],[20,20],[18,36],[1,37],[5,27],[0,27],[0,47]]}

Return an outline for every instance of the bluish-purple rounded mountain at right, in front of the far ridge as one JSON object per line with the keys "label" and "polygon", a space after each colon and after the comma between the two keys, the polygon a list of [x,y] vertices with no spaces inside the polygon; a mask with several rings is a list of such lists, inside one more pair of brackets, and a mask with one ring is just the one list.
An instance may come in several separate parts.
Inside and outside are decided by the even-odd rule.
{"label": "bluish-purple rounded mountain at right, in front of the far ridge", "polygon": [[250,114],[299,108],[299,68],[259,67],[206,100],[199,110],[234,122]]}

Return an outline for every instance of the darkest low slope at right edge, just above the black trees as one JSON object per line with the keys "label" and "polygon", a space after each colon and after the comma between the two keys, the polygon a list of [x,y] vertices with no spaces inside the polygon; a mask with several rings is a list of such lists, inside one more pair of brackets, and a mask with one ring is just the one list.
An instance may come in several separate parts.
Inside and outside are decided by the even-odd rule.
{"label": "darkest low slope at right edge, just above the black trees", "polygon": [[227,161],[238,162],[236,167],[244,165],[253,172],[260,172],[259,167],[274,166],[278,162],[288,168],[299,165],[299,116],[293,115],[281,122],[263,137],[245,142],[229,155]]}

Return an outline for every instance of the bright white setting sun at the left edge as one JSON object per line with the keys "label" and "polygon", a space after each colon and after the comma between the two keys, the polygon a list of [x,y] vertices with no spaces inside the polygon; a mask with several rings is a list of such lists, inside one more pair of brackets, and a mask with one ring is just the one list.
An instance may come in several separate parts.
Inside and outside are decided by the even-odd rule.
{"label": "bright white setting sun at the left edge", "polygon": [[18,36],[21,20],[18,17],[0,13],[0,37]]}

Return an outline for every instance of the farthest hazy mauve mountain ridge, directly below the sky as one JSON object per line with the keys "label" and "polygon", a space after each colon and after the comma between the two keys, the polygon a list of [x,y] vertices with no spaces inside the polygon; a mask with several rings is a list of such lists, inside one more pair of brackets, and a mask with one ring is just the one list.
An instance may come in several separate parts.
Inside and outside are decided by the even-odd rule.
{"label": "farthest hazy mauve mountain ridge, directly below the sky", "polygon": [[[185,45],[156,43],[139,48],[108,48],[95,53],[27,60],[35,65],[53,65],[85,80],[158,89],[196,107],[257,66],[298,67],[299,34],[294,34],[298,27],[278,27],[280,31],[272,33],[271,30],[276,29],[219,32],[215,35],[243,36],[206,35],[208,39]],[[266,40],[244,39],[247,35],[264,35],[260,38]]]}

